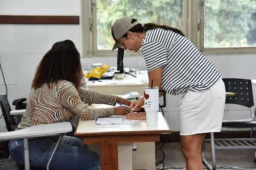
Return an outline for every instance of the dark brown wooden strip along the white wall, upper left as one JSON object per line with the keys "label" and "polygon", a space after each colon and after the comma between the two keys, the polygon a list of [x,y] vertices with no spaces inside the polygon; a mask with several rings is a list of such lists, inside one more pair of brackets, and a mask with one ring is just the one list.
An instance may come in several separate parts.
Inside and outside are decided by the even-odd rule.
{"label": "dark brown wooden strip along the white wall, upper left", "polygon": [[0,24],[75,24],[79,16],[0,15]]}

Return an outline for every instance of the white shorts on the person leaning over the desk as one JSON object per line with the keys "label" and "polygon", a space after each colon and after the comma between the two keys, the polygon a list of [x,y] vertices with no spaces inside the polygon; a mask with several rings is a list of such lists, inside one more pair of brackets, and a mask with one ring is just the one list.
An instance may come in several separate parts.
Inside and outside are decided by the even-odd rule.
{"label": "white shorts on the person leaning over the desk", "polygon": [[182,93],[180,135],[220,132],[225,100],[226,90],[222,79],[206,91]]}

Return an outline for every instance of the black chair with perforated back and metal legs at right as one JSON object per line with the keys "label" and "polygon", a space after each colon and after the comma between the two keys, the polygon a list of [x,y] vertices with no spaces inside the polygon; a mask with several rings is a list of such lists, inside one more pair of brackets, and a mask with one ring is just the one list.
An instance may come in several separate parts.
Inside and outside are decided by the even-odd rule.
{"label": "black chair with perforated back and metal legs at right", "polygon": [[227,96],[226,104],[237,104],[250,108],[248,119],[242,120],[223,120],[223,128],[242,129],[251,128],[251,138],[248,139],[214,139],[214,133],[210,133],[212,166],[205,159],[205,142],[202,144],[202,160],[209,169],[216,169],[215,150],[224,149],[253,149],[254,162],[256,157],[256,140],[252,137],[253,128],[256,127],[254,113],[254,102],[252,94],[251,80],[247,79],[223,79],[226,92],[233,92],[234,96]]}

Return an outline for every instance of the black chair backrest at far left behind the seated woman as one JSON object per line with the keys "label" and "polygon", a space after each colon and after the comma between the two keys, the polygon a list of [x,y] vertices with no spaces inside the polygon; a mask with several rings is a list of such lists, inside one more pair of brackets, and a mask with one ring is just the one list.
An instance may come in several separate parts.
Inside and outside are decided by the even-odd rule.
{"label": "black chair backrest at far left behind the seated woman", "polygon": [[0,107],[5,119],[6,127],[8,131],[12,131],[10,124],[11,125],[16,125],[14,117],[10,114],[11,112],[11,107],[8,102],[8,99],[6,97],[6,94],[1,94],[0,95]]}

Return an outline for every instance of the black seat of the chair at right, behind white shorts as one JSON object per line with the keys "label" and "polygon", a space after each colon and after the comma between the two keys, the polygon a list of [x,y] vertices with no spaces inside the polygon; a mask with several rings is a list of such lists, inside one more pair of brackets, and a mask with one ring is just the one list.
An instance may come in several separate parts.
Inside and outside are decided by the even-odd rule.
{"label": "black seat of the chair at right, behind white shorts", "polygon": [[222,122],[223,128],[254,128],[256,127],[256,119],[243,120],[224,120]]}

